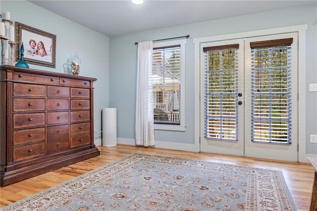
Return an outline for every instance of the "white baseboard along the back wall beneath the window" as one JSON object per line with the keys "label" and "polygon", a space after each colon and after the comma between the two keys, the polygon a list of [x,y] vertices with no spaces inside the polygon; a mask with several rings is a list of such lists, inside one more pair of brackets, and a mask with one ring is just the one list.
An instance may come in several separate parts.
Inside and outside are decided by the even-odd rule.
{"label": "white baseboard along the back wall beneath the window", "polygon": [[[126,144],[135,146],[135,139],[124,139],[118,138],[118,144]],[[181,150],[181,151],[189,151],[189,152],[199,152],[195,150],[194,144],[183,144],[183,143],[174,143],[174,142],[162,142],[156,141],[155,147],[163,148],[167,150]]]}

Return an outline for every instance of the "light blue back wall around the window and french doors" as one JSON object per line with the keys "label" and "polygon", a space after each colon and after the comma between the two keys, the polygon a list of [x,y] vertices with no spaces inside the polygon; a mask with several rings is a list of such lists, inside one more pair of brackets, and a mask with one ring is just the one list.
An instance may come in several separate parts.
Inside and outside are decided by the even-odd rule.
{"label": "light blue back wall around the window and french doors", "polygon": [[[186,131],[155,131],[156,141],[194,144],[194,44],[193,38],[308,24],[306,58],[306,153],[317,154],[309,134],[317,134],[317,3],[234,18],[206,21],[159,30],[110,37],[110,99],[117,108],[118,137],[135,139],[136,58],[135,42],[190,35],[186,45]],[[301,74],[301,73],[299,73]],[[301,116],[299,117],[301,118]],[[303,137],[300,137],[300,139]]]}

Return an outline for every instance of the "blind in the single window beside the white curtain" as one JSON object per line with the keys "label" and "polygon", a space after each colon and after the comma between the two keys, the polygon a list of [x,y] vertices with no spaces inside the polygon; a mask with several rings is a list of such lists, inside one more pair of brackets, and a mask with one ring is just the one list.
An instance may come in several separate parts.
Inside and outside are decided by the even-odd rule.
{"label": "blind in the single window beside the white curtain", "polygon": [[154,122],[180,124],[180,45],[153,49]]}

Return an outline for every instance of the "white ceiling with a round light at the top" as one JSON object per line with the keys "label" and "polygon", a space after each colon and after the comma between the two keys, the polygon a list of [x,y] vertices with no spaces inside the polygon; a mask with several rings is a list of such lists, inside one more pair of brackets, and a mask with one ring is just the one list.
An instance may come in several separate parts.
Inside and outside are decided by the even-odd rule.
{"label": "white ceiling with a round light at the top", "polygon": [[[316,3],[316,0],[29,0],[107,36]],[[294,14],[295,15],[295,14]]]}

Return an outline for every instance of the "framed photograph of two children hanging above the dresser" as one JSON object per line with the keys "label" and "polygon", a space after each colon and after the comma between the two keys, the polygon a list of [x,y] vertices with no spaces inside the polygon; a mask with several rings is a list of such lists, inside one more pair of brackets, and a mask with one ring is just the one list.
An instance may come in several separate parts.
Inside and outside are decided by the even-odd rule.
{"label": "framed photograph of two children hanging above the dresser", "polygon": [[24,61],[48,67],[55,67],[56,35],[15,22],[15,58],[21,59],[21,45]]}

